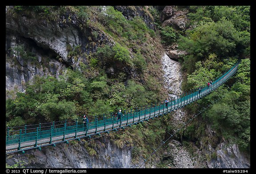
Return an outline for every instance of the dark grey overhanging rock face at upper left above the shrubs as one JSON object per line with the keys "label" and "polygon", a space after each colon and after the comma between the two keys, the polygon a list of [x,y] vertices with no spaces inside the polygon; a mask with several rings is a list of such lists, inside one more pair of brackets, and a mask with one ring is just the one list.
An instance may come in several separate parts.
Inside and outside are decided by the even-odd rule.
{"label": "dark grey overhanging rock face at upper left above the shrubs", "polygon": [[[114,44],[104,31],[84,27],[85,21],[78,20],[72,12],[53,22],[32,12],[17,17],[11,10],[12,6],[6,8],[6,90],[23,92],[24,83],[35,75],[58,77],[67,67],[79,69],[80,63],[88,63],[88,54],[95,52],[97,46]],[[19,46],[24,46],[26,56],[34,54],[35,59],[21,58]],[[83,54],[74,56],[77,50]]]}

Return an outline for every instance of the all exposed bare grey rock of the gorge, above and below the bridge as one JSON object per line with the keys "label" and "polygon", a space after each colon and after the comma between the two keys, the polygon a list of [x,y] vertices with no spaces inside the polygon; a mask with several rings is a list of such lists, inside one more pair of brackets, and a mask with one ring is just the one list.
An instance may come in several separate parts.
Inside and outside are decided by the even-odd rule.
{"label": "all exposed bare grey rock of the gorge, above and below the bridge", "polygon": [[[86,21],[78,18],[75,12],[66,11],[47,20],[36,13],[16,15],[14,7],[6,7],[6,90],[24,92],[25,83],[31,82],[36,75],[59,77],[68,67],[80,69],[88,64],[89,55],[102,44],[114,45],[115,41],[100,27],[85,25]],[[155,30],[154,18],[148,7],[115,6],[126,19],[141,16],[149,28]],[[102,8],[104,10],[104,8]],[[166,6],[161,13],[163,26],[170,25],[177,30],[186,30],[186,11],[178,11],[174,6]],[[36,16],[36,17],[35,17]],[[90,21],[94,19],[91,18]],[[157,41],[152,39],[152,45]],[[161,48],[161,47],[159,47]],[[162,48],[161,48],[162,49]],[[145,52],[147,51],[144,49]],[[178,59],[177,47],[166,49],[169,57]],[[164,55],[162,62],[153,62],[164,69],[164,78],[170,97],[180,95],[182,74],[179,62],[170,62],[164,49],[158,51]],[[170,54],[171,52],[172,54]],[[177,54],[175,54],[178,52]],[[79,54],[76,54],[79,53]],[[26,59],[24,59],[25,55]],[[172,56],[171,56],[172,55]],[[150,60],[148,60],[150,61]],[[108,67],[111,68],[111,67]],[[112,72],[114,71],[111,69]],[[123,69],[127,73],[135,70]],[[149,70],[150,71],[150,70]],[[159,78],[161,79],[161,78]],[[173,88],[175,86],[176,88]],[[7,93],[7,97],[10,97]],[[173,123],[178,125],[185,115],[184,110],[173,113]],[[168,135],[168,133],[166,133]],[[209,128],[207,135],[211,136]],[[221,138],[220,138],[221,139]],[[146,167],[172,168],[248,168],[250,157],[240,153],[234,143],[219,141],[215,147],[203,140],[199,144],[189,142],[186,146],[182,139],[171,139],[157,152],[155,160]],[[128,144],[128,143],[127,143]],[[61,144],[56,147],[43,148],[42,151],[30,151],[25,155],[16,155],[7,159],[9,165],[25,161],[26,168],[137,168],[144,160],[140,157],[134,161],[133,148],[124,144],[118,147],[108,138],[95,139],[88,148],[86,142]],[[32,159],[32,160],[31,160]],[[143,165],[142,167],[145,167]]]}

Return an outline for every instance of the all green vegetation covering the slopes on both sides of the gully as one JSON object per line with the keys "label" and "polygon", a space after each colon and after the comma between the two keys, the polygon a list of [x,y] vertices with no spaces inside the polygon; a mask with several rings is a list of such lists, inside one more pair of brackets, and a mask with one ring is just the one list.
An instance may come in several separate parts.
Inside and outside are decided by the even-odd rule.
{"label": "all green vegetation covering the slopes on both sides of the gully", "polygon": [[[132,7],[130,7],[132,8]],[[42,19],[56,21],[64,15],[63,23],[71,25],[73,14],[82,32],[87,27],[104,31],[112,43],[96,44],[96,50],[85,54],[81,46],[67,45],[68,57],[78,61],[87,56],[88,62],[79,62],[80,70],[67,69],[58,79],[35,77],[27,84],[25,93],[6,100],[6,126],[43,123],[48,121],[89,117],[122,108],[131,109],[163,100],[167,94],[161,84],[161,52],[156,43],[168,46],[177,42],[186,54],[180,61],[183,65],[185,80],[182,90],[190,91],[205,85],[227,71],[242,58],[235,77],[216,92],[211,93],[198,104],[186,108],[194,112],[212,103],[212,107],[197,117],[182,132],[184,144],[189,141],[199,145],[216,147],[220,139],[230,139],[239,144],[240,149],[250,151],[250,7],[248,6],[188,6],[188,18],[192,29],[177,32],[172,27],[160,27],[156,19],[156,31],[149,29],[140,17],[127,20],[113,7],[87,6],[15,6],[16,15],[26,13],[30,17],[36,13]],[[66,13],[67,12],[67,13]],[[151,10],[156,15],[156,10]],[[160,16],[158,16],[160,17]],[[92,22],[93,21],[93,22]],[[158,22],[157,22],[158,21]],[[99,37],[92,32],[90,41]],[[94,44],[94,43],[93,43]],[[88,44],[88,48],[90,44]],[[33,59],[24,46],[16,46],[13,51],[22,58]],[[106,73],[115,68],[114,74]],[[171,129],[171,117],[163,116],[148,124],[138,124],[116,133],[112,137],[117,147],[124,144],[134,146],[134,162],[142,155],[145,159],[157,147],[156,142],[164,139],[166,130]],[[205,137],[207,125],[216,135]],[[202,137],[203,136],[203,137]],[[136,142],[132,141],[135,139]],[[144,139],[147,140],[145,143]],[[188,142],[187,142],[188,141]],[[190,148],[192,149],[192,147]],[[96,155],[93,147],[88,147],[90,155]],[[210,159],[216,159],[212,154]]]}

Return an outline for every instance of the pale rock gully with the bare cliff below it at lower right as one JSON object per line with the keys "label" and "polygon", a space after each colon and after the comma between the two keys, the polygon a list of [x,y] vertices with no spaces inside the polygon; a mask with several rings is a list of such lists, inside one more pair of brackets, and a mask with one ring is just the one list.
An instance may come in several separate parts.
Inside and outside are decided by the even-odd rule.
{"label": "pale rock gully with the bare cliff below it at lower right", "polygon": [[[183,73],[180,62],[164,54],[162,63],[169,97],[176,97],[182,91]],[[184,109],[177,109],[173,112],[172,125],[175,128],[181,128],[187,116],[189,113],[184,112]],[[205,131],[209,138],[216,138],[210,126]],[[250,168],[250,157],[240,153],[235,143],[228,143],[220,137],[217,138],[214,147],[199,140],[199,146],[191,142],[189,148],[184,146],[182,141],[171,139],[164,149],[162,163],[171,168]]]}

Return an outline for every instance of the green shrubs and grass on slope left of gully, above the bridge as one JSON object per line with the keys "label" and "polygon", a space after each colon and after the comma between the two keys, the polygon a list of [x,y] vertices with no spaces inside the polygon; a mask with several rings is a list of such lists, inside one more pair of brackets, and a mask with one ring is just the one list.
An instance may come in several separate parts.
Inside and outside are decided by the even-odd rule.
{"label": "green shrubs and grass on slope left of gully, above the bridge", "polygon": [[[95,6],[15,6],[15,13],[52,22],[59,22],[57,16],[64,16],[63,25],[71,25],[72,20],[76,20],[82,32],[88,27],[99,28],[111,35],[115,44],[97,45],[96,51],[88,55],[81,45],[67,43],[67,56],[79,62],[80,70],[67,69],[58,79],[34,77],[31,84],[26,84],[25,93],[17,92],[15,98],[6,100],[6,126],[72,120],[82,114],[93,117],[119,108],[130,110],[160,101],[166,95],[157,81],[161,67],[152,67],[152,61],[160,58],[152,56],[157,50],[152,44],[152,37],[156,35],[140,17],[127,20],[110,6],[105,11]],[[99,37],[96,31],[88,37],[93,44]],[[24,59],[28,57],[24,56],[26,51],[22,45],[14,51]],[[88,64],[81,62],[81,57],[88,57]],[[111,66],[116,69],[113,75],[106,73]],[[145,75],[149,68],[151,73]],[[136,78],[131,77],[131,71]]]}

